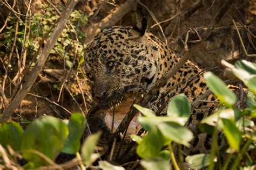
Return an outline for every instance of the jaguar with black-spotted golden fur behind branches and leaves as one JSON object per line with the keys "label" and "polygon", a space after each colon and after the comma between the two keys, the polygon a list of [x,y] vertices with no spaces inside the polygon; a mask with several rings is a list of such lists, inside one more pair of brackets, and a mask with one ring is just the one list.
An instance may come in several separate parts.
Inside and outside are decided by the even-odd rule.
{"label": "jaguar with black-spotted golden fur behind branches and leaves", "polygon": [[[143,20],[134,27],[113,26],[100,31],[87,44],[85,70],[96,100],[105,98],[102,108],[107,109],[118,102],[116,98],[127,93],[128,87],[141,87],[144,93],[149,91],[179,59],[164,42],[146,31]],[[152,97],[149,107],[158,115],[165,115],[166,108],[158,110],[180,93],[192,103],[207,90],[202,73],[198,66],[187,61]],[[215,98],[210,95],[207,100],[214,101]],[[196,125],[214,109],[214,103],[201,103],[192,110],[186,126],[196,137],[193,147],[185,149],[186,153],[205,153],[210,148],[210,140],[206,140],[209,136],[198,134]]]}

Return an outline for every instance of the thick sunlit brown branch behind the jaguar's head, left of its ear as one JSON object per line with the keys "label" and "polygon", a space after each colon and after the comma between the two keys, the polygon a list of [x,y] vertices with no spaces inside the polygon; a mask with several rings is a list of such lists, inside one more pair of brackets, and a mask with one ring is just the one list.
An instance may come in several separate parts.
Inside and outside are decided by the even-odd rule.
{"label": "thick sunlit brown branch behind the jaguar's head, left of its ear", "polygon": [[84,44],[87,44],[95,35],[106,26],[112,26],[118,22],[127,12],[131,11],[136,5],[136,0],[127,0],[125,3],[117,7],[112,13],[103,18],[99,23],[91,23],[86,28],[87,37],[84,40]]}

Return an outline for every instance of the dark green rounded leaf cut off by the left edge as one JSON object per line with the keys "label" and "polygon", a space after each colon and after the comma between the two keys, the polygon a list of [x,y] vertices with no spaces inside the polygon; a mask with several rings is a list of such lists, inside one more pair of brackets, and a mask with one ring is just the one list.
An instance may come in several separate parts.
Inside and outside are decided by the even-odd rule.
{"label": "dark green rounded leaf cut off by the left edge", "polygon": [[17,122],[1,123],[0,144],[5,148],[10,145],[14,150],[19,150],[23,133],[21,125]]}

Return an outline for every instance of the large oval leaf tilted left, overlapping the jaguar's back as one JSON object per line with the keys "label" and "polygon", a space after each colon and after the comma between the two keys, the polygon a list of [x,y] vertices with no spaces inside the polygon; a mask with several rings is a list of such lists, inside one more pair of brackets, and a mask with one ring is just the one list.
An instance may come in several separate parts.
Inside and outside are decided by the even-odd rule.
{"label": "large oval leaf tilted left, overlapping the jaguar's back", "polygon": [[207,87],[217,96],[221,103],[231,107],[237,101],[235,94],[227,88],[226,84],[211,72],[206,72],[204,78]]}

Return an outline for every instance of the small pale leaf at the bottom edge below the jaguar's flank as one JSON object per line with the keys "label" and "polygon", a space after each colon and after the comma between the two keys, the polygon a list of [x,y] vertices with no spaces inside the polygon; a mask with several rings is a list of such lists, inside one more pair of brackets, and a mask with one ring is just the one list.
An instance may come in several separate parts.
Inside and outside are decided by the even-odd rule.
{"label": "small pale leaf at the bottom edge below the jaguar's flank", "polygon": [[210,154],[196,154],[188,156],[185,161],[190,165],[192,169],[201,169],[210,165],[211,155]]}

